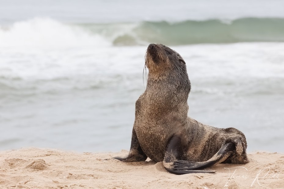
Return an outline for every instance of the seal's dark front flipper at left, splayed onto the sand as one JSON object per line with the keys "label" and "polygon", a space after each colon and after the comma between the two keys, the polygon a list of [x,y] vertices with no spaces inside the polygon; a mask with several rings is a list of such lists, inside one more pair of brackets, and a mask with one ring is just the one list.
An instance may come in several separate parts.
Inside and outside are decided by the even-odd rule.
{"label": "seal's dark front flipper at left, splayed onto the sand", "polygon": [[147,155],[143,152],[139,144],[134,128],[132,130],[129,154],[126,157],[114,157],[113,159],[118,159],[122,162],[138,162],[145,161],[147,159]]}

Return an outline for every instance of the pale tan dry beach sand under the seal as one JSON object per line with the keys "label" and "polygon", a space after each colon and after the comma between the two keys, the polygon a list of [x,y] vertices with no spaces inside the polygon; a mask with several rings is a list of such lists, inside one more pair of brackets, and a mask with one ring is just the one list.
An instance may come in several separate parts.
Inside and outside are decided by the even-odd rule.
{"label": "pale tan dry beach sand under the seal", "polygon": [[[284,188],[284,154],[254,152],[216,173],[174,175],[161,162],[104,160],[119,153],[21,148],[0,152],[0,188]],[[236,167],[236,168],[235,168]],[[230,171],[230,173],[229,173]],[[260,173],[260,174],[259,174]]]}

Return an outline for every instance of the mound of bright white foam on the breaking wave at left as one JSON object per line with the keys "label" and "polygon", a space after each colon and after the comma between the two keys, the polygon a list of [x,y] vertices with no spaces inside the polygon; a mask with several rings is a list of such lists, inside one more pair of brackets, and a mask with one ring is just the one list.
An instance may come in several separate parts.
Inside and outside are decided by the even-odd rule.
{"label": "mound of bright white foam on the breaking wave at left", "polygon": [[0,27],[0,48],[72,48],[76,46],[106,47],[103,36],[82,28],[62,24],[50,18],[34,18]]}

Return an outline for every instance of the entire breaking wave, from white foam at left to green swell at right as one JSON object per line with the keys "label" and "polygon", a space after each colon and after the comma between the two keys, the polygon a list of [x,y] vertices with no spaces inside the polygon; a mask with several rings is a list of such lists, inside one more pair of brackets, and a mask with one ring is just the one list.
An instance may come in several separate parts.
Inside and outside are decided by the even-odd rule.
{"label": "entire breaking wave, from white foam at left to green swell at right", "polygon": [[64,24],[35,18],[0,27],[0,47],[131,46],[162,43],[283,42],[284,18]]}

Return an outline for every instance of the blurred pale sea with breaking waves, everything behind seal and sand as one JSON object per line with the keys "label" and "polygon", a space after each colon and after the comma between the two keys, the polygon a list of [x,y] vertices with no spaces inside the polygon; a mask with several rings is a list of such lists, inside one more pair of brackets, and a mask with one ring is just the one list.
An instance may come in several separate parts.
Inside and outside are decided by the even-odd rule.
{"label": "blurred pale sea with breaking waves, everything behind seal and sand", "polygon": [[0,150],[128,150],[146,48],[162,43],[187,64],[190,117],[241,130],[248,152],[284,152],[283,7],[0,0]]}

